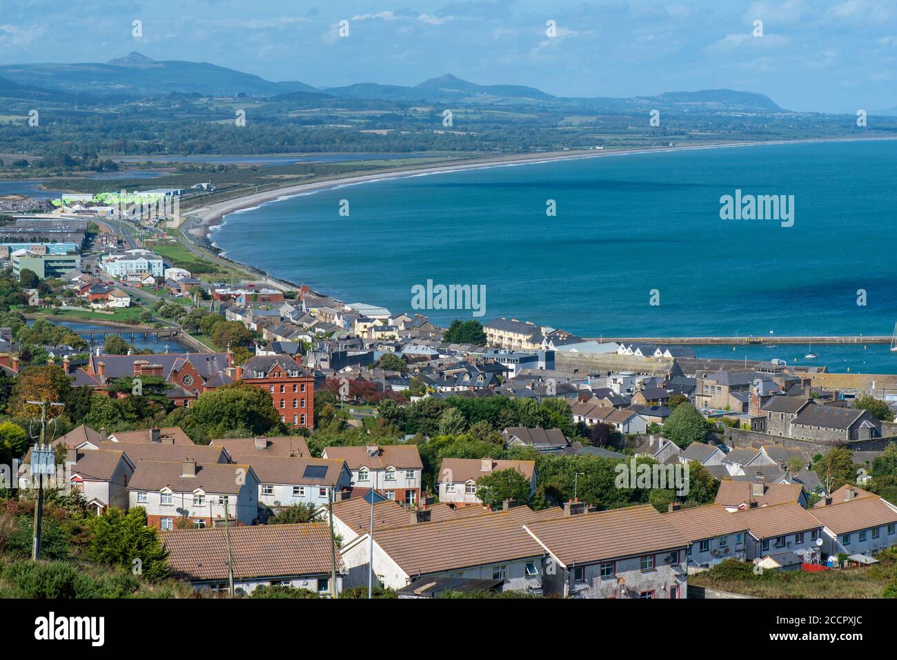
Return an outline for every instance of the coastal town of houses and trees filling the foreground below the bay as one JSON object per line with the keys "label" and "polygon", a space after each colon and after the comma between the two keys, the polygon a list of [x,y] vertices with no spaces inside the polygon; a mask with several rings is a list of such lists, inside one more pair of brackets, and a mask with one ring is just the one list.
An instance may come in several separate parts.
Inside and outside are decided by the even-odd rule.
{"label": "coastal town of houses and trees filling the foreground below the bay", "polygon": [[897,596],[897,390],[253,279],[185,193],[4,219],[9,595]]}

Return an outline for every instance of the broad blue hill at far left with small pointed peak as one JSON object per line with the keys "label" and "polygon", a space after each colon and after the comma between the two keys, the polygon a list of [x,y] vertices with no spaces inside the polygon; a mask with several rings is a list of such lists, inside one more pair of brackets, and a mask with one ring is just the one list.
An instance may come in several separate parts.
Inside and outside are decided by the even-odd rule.
{"label": "broad blue hill at far left with small pointed peak", "polygon": [[106,64],[0,65],[0,76],[21,85],[39,85],[63,91],[89,91],[93,95],[167,94],[171,91],[204,95],[274,96],[290,91],[315,91],[299,82],[272,83],[206,62],[157,61],[140,53],[109,60]]}

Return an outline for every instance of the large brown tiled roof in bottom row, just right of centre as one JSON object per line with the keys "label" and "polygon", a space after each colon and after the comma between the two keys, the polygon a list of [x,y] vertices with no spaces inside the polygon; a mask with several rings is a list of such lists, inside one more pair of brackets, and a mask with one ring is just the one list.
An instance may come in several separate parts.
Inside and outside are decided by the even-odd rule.
{"label": "large brown tiled roof in bottom row, just right of centre", "polygon": [[688,539],[650,505],[564,516],[527,529],[568,567],[688,545]]}

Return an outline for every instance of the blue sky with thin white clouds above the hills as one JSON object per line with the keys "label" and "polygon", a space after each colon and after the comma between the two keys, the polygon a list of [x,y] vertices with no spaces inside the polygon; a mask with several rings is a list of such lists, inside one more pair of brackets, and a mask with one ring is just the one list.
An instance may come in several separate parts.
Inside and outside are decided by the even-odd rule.
{"label": "blue sky with thin white clouds above the hills", "polygon": [[897,0],[0,0],[0,64],[131,51],[316,87],[451,73],[558,96],[728,88],[802,111],[897,107]]}

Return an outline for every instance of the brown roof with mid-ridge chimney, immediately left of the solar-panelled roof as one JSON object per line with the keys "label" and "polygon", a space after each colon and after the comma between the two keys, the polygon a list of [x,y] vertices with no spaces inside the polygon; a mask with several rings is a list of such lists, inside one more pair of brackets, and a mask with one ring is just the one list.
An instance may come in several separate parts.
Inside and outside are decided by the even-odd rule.
{"label": "brown roof with mid-ridge chimney, immediately left of the solar-panelled roof", "polygon": [[[193,492],[202,489],[207,493],[239,493],[242,483],[247,482],[251,468],[239,464],[196,465],[196,476],[184,476],[180,462],[141,461],[135,466],[129,491],[161,491],[170,488],[173,492]],[[253,474],[255,474],[253,472]]]}

